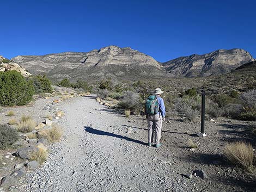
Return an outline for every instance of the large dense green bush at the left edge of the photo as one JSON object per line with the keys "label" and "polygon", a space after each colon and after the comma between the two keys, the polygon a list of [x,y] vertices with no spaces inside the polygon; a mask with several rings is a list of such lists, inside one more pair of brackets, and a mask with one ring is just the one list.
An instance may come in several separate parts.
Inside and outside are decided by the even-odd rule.
{"label": "large dense green bush at the left edge of the photo", "polygon": [[35,93],[32,80],[26,80],[20,72],[0,72],[0,105],[22,106],[29,103]]}

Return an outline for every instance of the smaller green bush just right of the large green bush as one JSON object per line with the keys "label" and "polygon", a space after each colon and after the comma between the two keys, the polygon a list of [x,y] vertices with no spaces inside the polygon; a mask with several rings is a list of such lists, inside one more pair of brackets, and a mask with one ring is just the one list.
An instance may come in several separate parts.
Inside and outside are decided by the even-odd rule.
{"label": "smaller green bush just right of the large green bush", "polygon": [[52,82],[50,79],[48,79],[45,75],[37,75],[32,78],[33,85],[35,88],[36,94],[41,94],[44,92],[50,92],[52,93]]}

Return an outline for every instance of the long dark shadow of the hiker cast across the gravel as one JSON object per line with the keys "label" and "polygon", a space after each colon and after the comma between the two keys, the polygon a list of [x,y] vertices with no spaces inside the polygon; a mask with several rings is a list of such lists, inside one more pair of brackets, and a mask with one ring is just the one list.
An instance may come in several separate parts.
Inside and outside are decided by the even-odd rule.
{"label": "long dark shadow of the hiker cast across the gravel", "polygon": [[132,141],[132,142],[137,143],[137,144],[147,145],[146,143],[144,143],[142,141],[139,141],[139,140],[136,140],[136,139],[132,139],[132,138],[129,138],[129,137],[124,137],[122,135],[117,135],[117,134],[109,133],[109,132],[106,132],[106,131],[101,131],[101,130],[94,129],[94,128],[88,127],[88,126],[84,126],[84,130],[88,133],[92,133],[92,134],[96,134],[96,135],[107,135],[107,136],[110,136],[110,137],[115,137],[115,138],[119,138],[119,139],[125,139],[127,141]]}

